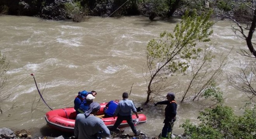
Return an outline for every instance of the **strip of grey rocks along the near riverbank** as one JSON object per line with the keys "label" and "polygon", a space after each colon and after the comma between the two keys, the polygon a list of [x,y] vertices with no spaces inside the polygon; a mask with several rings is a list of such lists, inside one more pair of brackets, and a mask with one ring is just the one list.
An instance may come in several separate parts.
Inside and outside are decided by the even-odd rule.
{"label": "strip of grey rocks along the near riverbank", "polygon": [[[178,137],[179,139],[187,139],[187,137],[183,135],[176,135],[176,134],[172,135],[172,139],[176,137]],[[111,133],[111,136],[107,139],[158,139],[158,138],[159,137],[148,137],[144,133],[140,133],[139,136]],[[9,128],[3,127],[0,129],[0,139],[74,139],[74,136],[61,135],[59,137],[50,137],[50,136],[33,137],[31,136],[31,133],[27,130],[12,131]]]}

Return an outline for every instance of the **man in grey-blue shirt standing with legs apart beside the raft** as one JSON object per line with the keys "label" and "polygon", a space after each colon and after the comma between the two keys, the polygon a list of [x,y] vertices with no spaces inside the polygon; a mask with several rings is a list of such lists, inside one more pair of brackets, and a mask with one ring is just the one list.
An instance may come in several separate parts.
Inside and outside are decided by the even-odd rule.
{"label": "man in grey-blue shirt standing with legs apart beside the raft", "polygon": [[133,102],[131,100],[128,100],[128,93],[124,92],[123,93],[123,100],[121,100],[118,103],[118,107],[116,108],[116,111],[114,112],[114,119],[116,117],[116,115],[118,116],[118,118],[116,119],[115,124],[113,125],[113,127],[111,128],[111,131],[119,131],[117,130],[118,126],[121,124],[121,122],[123,122],[123,120],[126,120],[126,122],[130,125],[131,130],[133,131],[133,133],[135,134],[135,136],[140,135],[140,131],[137,131],[132,118],[131,118],[131,111],[134,112],[136,114],[136,117],[138,118],[138,114],[137,114],[137,110],[135,108],[135,105],[133,104]]}

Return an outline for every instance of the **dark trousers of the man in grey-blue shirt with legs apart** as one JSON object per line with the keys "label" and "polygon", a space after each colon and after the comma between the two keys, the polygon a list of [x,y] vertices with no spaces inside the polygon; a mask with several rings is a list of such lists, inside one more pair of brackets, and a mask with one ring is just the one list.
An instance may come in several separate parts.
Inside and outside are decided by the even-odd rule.
{"label": "dark trousers of the man in grey-blue shirt with legs apart", "polygon": [[131,130],[133,133],[137,133],[137,130],[132,122],[132,118],[131,115],[129,116],[122,116],[122,115],[118,115],[115,124],[113,125],[111,131],[116,131],[116,129],[118,128],[118,126],[123,122],[123,120],[126,120],[126,122],[130,125]]}

